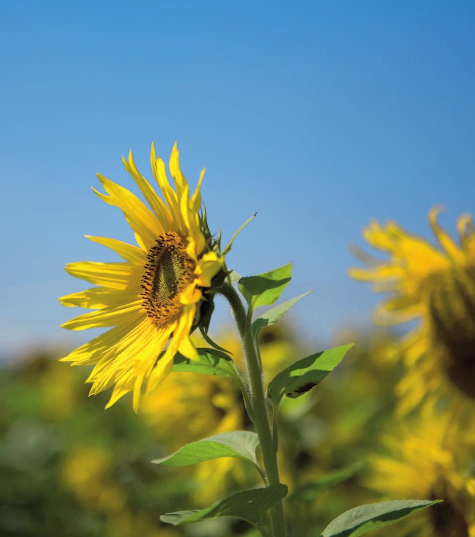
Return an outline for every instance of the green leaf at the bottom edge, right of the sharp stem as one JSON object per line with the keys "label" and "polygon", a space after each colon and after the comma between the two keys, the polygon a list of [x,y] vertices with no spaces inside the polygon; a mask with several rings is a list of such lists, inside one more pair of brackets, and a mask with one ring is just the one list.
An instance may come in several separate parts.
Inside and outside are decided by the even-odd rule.
{"label": "green leaf at the bottom edge, right of the sharp stem", "polygon": [[320,537],[357,537],[373,529],[390,526],[410,514],[426,509],[442,500],[393,500],[376,504],[360,505],[335,518]]}

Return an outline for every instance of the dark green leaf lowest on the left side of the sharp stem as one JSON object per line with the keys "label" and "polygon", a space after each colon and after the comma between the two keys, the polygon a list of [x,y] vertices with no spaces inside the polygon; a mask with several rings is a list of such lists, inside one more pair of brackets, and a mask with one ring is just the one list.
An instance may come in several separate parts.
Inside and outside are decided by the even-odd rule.
{"label": "dark green leaf lowest on the left side of the sharp stem", "polygon": [[160,520],[179,526],[218,517],[235,517],[246,520],[255,526],[260,526],[263,514],[276,502],[285,498],[286,494],[287,487],[283,484],[270,485],[261,489],[243,490],[209,507],[205,507],[205,509],[167,513],[163,514]]}

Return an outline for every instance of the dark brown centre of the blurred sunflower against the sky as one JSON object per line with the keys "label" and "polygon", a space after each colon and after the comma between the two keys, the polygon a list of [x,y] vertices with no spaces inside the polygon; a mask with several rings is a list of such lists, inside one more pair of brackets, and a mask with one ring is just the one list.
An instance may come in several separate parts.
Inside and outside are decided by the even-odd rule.
{"label": "dark brown centre of the blurred sunflower against the sky", "polygon": [[431,336],[448,378],[475,398],[475,267],[432,274],[427,284]]}

